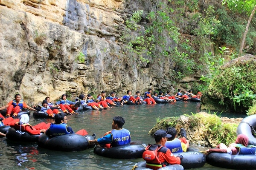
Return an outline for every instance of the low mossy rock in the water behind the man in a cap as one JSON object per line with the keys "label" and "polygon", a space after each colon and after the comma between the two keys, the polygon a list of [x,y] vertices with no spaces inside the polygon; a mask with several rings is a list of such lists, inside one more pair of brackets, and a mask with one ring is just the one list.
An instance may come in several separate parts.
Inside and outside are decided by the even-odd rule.
{"label": "low mossy rock in the water behind the man in a cap", "polygon": [[200,112],[191,116],[164,118],[148,134],[152,136],[156,130],[165,130],[168,126],[175,127],[177,133],[184,128],[191,144],[215,147],[221,142],[228,145],[236,140],[236,128],[241,120]]}

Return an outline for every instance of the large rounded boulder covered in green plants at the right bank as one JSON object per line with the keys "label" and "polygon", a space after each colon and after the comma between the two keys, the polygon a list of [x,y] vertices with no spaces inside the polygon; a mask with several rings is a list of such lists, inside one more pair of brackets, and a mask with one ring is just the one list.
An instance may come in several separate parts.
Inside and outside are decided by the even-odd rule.
{"label": "large rounded boulder covered in green plants at the right bank", "polygon": [[256,61],[247,58],[229,67],[221,67],[214,71],[214,77],[203,77],[208,81],[207,94],[217,99],[219,104],[227,105],[239,111],[247,110],[256,100]]}

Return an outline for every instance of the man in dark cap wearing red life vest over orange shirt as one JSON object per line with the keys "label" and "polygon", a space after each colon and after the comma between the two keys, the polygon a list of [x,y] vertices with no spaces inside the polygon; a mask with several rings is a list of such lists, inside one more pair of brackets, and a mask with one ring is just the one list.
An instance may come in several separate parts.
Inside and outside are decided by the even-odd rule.
{"label": "man in dark cap wearing red life vest over orange shirt", "polygon": [[153,170],[157,170],[160,167],[165,167],[171,164],[180,164],[181,159],[183,159],[183,156],[178,155],[177,157],[175,157],[172,154],[171,150],[164,146],[167,141],[167,138],[170,137],[172,137],[172,135],[167,134],[165,130],[157,130],[154,133],[154,139],[156,141],[156,144],[149,144],[145,152],[147,152],[147,150],[157,150],[157,159],[150,161],[150,158],[148,157],[147,154],[144,154],[144,152],[143,159],[146,161],[146,167],[151,168]]}

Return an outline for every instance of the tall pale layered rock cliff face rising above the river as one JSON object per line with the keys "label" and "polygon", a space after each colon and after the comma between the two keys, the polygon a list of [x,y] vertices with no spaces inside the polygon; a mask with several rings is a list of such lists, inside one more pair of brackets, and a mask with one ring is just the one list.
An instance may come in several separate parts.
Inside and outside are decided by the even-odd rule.
{"label": "tall pale layered rock cliff face rising above the river", "polygon": [[[164,65],[156,70],[138,68],[136,58],[123,54],[120,31],[138,8],[129,3],[0,0],[0,105],[16,93],[32,105],[65,93],[114,90],[121,96],[127,90],[162,86],[174,90],[168,79],[163,80]],[[149,5],[143,8],[150,7],[144,3]],[[77,61],[79,54],[84,54],[84,63]]]}

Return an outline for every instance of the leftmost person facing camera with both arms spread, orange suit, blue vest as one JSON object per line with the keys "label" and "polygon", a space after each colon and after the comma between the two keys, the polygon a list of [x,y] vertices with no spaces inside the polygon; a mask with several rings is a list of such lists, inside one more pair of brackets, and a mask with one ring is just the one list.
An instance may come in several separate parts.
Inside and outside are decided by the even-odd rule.
{"label": "leftmost person facing camera with both arms spread, orange suit, blue vest", "polygon": [[[7,105],[0,108],[0,111],[7,108],[6,117],[13,116],[14,118],[18,115],[23,108],[28,108],[29,110],[36,111],[34,108],[29,107],[22,99],[20,94],[15,94],[15,99],[10,101]],[[13,113],[13,114],[12,114]],[[12,115],[11,115],[12,114]]]}

